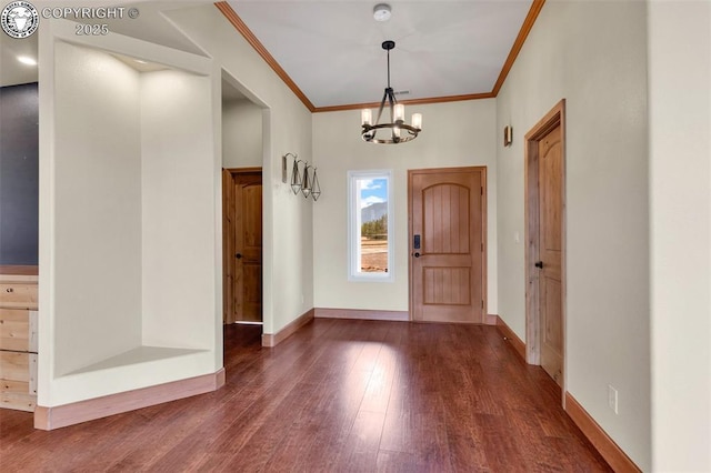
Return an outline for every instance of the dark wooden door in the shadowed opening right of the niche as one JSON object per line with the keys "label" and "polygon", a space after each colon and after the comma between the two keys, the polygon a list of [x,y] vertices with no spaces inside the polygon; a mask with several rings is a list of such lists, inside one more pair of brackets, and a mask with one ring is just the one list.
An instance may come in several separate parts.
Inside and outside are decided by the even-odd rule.
{"label": "dark wooden door in the shadowed opening right of the niche", "polygon": [[223,170],[224,323],[262,321],[261,170]]}

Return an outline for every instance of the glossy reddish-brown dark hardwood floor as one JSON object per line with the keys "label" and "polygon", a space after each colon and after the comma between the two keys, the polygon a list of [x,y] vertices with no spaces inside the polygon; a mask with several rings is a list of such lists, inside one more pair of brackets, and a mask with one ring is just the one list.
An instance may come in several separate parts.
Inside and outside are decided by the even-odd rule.
{"label": "glossy reddish-brown dark hardwood floor", "polygon": [[492,326],[317,319],[274,349],[226,328],[227,385],[59,429],[0,410],[0,471],[610,471]]}

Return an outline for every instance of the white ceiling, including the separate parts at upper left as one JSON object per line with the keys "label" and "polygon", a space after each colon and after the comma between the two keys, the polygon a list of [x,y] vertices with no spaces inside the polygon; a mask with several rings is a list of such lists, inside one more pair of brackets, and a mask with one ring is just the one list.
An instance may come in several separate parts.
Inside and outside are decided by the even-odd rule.
{"label": "white ceiling, including the separate parts at upper left", "polygon": [[[40,2],[34,2],[37,6]],[[67,0],[64,3],[74,3]],[[106,3],[106,2],[104,2]],[[117,1],[113,4],[123,3]],[[137,20],[109,21],[109,29],[193,53],[202,53],[178,32],[162,11],[213,8],[206,0],[136,1]],[[532,0],[392,0],[392,18],[373,19],[378,1],[231,0],[244,21],[314,108],[379,102],[387,84],[381,43],[394,40],[391,85],[409,91],[399,100],[489,93],[501,73]],[[238,33],[237,33],[238,34]],[[37,80],[18,53],[33,50],[31,40],[1,33],[1,84]]]}

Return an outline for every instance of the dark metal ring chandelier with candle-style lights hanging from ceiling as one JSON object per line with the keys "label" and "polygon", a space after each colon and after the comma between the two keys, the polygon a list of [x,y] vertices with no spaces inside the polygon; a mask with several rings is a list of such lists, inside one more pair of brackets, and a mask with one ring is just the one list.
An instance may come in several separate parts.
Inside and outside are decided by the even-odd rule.
{"label": "dark metal ring chandelier with candle-style lights hanging from ceiling", "polygon": [[[418,133],[422,131],[422,114],[412,113],[412,124],[404,122],[404,105],[398,103],[395,94],[390,87],[390,50],[394,49],[394,41],[383,41],[382,49],[388,51],[388,87],[380,101],[378,109],[378,118],[373,123],[373,115],[370,109],[361,111],[361,137],[369,143],[397,144],[405,143],[418,138]],[[382,111],[388,103],[390,112],[390,122],[380,123]],[[380,134],[378,134],[380,131]]]}

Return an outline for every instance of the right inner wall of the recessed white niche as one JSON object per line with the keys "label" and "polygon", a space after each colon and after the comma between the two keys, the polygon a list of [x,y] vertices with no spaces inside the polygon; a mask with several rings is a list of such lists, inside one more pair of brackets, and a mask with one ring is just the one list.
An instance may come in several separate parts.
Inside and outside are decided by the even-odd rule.
{"label": "right inner wall of the recessed white niche", "polygon": [[210,92],[209,77],[141,74],[144,345],[212,348],[221,304],[214,303],[220,181]]}

